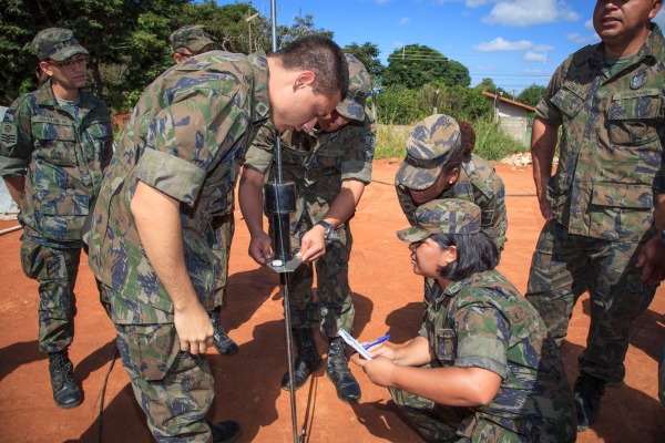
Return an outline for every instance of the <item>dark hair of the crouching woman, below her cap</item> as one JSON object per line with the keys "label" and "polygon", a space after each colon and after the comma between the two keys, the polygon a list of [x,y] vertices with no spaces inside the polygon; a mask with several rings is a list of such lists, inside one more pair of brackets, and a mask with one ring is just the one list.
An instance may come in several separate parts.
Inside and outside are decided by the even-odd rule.
{"label": "dark hair of the crouching woman, below her cap", "polygon": [[457,247],[458,259],[446,268],[439,268],[439,275],[451,281],[463,280],[475,272],[494,269],[499,261],[497,245],[482,230],[477,234],[434,234],[431,239],[443,249]]}

